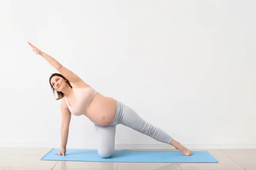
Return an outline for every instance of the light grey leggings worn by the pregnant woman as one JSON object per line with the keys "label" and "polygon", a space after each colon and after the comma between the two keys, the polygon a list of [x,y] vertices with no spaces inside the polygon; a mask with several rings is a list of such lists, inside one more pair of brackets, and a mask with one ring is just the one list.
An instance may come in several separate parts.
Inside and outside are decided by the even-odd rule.
{"label": "light grey leggings worn by the pregnant woman", "polygon": [[122,124],[159,142],[170,144],[172,137],[163,130],[145,122],[133,109],[117,101],[116,116],[107,126],[95,125],[97,133],[98,153],[102,158],[108,158],[115,150],[116,125]]}

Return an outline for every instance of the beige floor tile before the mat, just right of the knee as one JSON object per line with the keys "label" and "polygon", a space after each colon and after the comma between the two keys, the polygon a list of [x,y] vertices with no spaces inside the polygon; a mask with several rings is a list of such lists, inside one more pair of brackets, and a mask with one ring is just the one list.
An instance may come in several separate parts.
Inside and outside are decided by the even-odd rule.
{"label": "beige floor tile before the mat, just right of the knee", "polygon": [[180,170],[177,163],[118,162],[118,170]]}

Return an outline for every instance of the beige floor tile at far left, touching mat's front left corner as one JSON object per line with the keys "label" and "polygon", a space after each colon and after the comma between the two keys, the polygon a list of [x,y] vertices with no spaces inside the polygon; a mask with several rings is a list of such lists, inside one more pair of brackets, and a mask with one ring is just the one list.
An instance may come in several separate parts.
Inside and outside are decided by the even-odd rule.
{"label": "beige floor tile at far left, touching mat's front left corner", "polygon": [[42,161],[43,155],[7,155],[0,159],[0,167],[52,168],[57,161]]}

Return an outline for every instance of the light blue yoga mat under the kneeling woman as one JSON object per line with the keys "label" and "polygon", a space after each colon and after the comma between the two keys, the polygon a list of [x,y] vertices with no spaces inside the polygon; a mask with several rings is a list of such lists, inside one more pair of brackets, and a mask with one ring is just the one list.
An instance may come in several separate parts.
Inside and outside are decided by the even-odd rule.
{"label": "light blue yoga mat under the kneeling woman", "polygon": [[54,161],[97,161],[97,162],[218,162],[207,151],[192,151],[185,156],[180,151],[115,150],[111,157],[101,158],[97,150],[67,149],[65,156],[55,155],[59,149],[52,149],[41,160]]}

